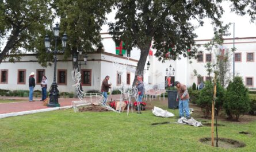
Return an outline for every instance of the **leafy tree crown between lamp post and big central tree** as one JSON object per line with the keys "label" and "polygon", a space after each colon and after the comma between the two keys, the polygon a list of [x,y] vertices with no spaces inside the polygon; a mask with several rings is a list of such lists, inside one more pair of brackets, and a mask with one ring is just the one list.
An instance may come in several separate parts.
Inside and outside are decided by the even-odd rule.
{"label": "leafy tree crown between lamp post and big central tree", "polygon": [[[68,42],[65,57],[78,56],[83,52],[101,50],[101,26],[106,21],[106,13],[111,11],[113,1],[56,0],[55,9],[60,17],[60,36],[67,33]],[[60,43],[59,43],[60,44]],[[43,61],[45,53],[40,53]],[[78,61],[73,64],[78,68]]]}

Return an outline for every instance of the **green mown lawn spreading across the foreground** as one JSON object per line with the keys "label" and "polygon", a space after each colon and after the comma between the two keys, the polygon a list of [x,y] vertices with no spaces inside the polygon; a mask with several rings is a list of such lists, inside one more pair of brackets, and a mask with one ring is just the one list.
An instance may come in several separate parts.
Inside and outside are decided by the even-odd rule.
{"label": "green mown lawn spreading across the foreground", "polygon": [[[161,102],[152,104],[167,109]],[[168,111],[178,116],[178,110]],[[166,121],[173,123],[151,125]],[[246,143],[246,147],[238,149],[204,145],[198,140],[211,137],[211,127],[192,127],[176,121],[176,117],[156,117],[150,110],[129,116],[72,110],[15,116],[0,119],[0,151],[255,151],[255,121],[220,122],[226,127],[218,127],[219,137]]]}

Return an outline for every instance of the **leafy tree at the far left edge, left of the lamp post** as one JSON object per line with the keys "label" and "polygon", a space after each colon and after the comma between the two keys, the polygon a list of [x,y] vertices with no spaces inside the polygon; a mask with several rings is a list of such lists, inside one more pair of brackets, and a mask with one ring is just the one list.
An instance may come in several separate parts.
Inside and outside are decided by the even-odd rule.
{"label": "leafy tree at the far left edge, left of the lamp post", "polygon": [[22,49],[36,51],[35,47],[51,25],[51,0],[0,0],[0,64],[6,54],[19,59]]}

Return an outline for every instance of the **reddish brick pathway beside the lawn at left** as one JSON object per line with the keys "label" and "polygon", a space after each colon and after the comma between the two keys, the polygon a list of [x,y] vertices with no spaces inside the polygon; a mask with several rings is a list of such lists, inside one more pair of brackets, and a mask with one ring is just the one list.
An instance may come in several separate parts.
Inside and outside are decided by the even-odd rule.
{"label": "reddish brick pathway beside the lawn at left", "polygon": [[[24,100],[24,102],[14,102],[14,103],[0,103],[0,114],[7,114],[10,112],[21,112],[29,110],[39,110],[44,108],[51,108],[43,106],[43,102],[40,102],[40,98],[33,98],[35,102],[28,102],[28,98],[22,97],[0,97],[0,99],[15,99],[15,100]],[[110,96],[108,100],[110,101]],[[112,100],[120,99],[120,95],[112,95]],[[59,98],[60,107],[71,106],[72,101],[79,100],[78,98]]]}

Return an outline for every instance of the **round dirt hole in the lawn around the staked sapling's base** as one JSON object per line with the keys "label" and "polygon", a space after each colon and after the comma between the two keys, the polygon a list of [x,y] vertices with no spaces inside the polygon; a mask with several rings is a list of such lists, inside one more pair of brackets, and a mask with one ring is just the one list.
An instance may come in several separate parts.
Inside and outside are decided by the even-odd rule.
{"label": "round dirt hole in the lawn around the staked sapling's base", "polygon": [[[199,139],[201,143],[205,145],[212,146],[212,138],[201,138]],[[216,147],[216,138],[214,139],[214,146]],[[228,138],[218,138],[218,147],[226,148],[226,149],[234,149],[246,146],[245,143],[235,141],[233,139]]]}

